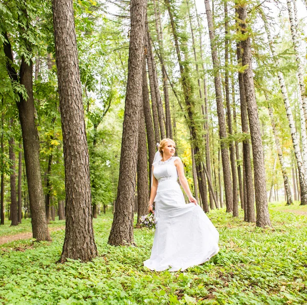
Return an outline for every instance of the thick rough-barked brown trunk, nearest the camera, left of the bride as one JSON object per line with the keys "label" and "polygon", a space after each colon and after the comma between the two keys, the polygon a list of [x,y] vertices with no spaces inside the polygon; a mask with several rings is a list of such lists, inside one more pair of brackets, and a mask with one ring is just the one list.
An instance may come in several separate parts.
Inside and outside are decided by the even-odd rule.
{"label": "thick rough-barked brown trunk, nearest the camera, left of the bride", "polygon": [[94,240],[89,151],[87,148],[73,2],[53,1],[65,166],[65,239],[60,262],[87,262],[98,255]]}

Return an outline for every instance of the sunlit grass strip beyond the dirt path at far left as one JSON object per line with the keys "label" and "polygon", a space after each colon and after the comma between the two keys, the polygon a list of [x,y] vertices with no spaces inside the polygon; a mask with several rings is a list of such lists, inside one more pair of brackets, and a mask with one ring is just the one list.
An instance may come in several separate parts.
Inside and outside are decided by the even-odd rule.
{"label": "sunlit grass strip beyond the dirt path at far left", "polygon": [[[48,225],[49,228],[61,226],[65,226],[65,221],[50,221],[50,224]],[[11,221],[6,218],[4,225],[0,226],[0,237],[27,232],[32,232],[31,219],[29,218],[21,220],[21,224],[18,226],[11,226]]]}

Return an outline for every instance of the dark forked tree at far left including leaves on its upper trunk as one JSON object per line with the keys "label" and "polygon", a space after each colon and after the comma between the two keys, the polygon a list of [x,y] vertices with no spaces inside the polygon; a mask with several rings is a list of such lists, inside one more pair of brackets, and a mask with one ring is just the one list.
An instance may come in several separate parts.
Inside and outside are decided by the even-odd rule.
{"label": "dark forked tree at far left including leaves on its upper trunk", "polygon": [[[40,164],[39,164],[39,142],[38,133],[35,125],[35,107],[33,98],[33,53],[32,43],[28,38],[35,32],[31,19],[28,17],[28,6],[25,3],[17,3],[13,8],[17,10],[20,27],[17,31],[21,37],[19,45],[20,67],[19,73],[15,69],[15,64],[12,56],[12,46],[6,29],[3,32],[4,36],[4,54],[6,56],[6,68],[8,76],[12,82],[19,86],[20,90],[17,94],[17,108],[21,133],[23,137],[24,156],[26,165],[26,174],[28,182],[29,202],[32,216],[32,232],[33,238],[37,241],[51,241],[46,221],[46,214],[43,205],[43,190],[41,184]],[[21,26],[23,24],[23,26]],[[10,28],[8,27],[8,30]]]}

